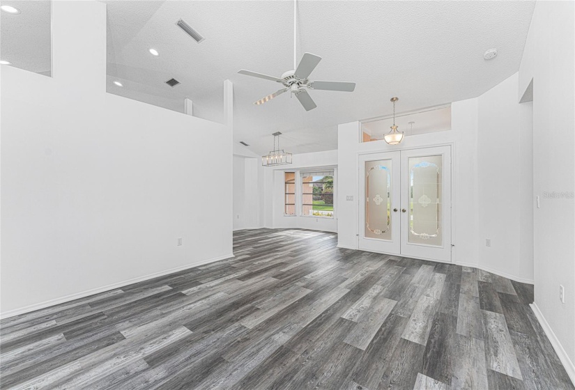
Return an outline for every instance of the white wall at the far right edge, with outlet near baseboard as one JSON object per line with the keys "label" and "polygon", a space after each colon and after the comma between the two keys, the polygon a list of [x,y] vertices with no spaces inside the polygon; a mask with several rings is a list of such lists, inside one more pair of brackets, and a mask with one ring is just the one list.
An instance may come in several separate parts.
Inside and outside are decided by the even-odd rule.
{"label": "white wall at the far right edge, with outlet near baseboard", "polygon": [[[518,96],[532,79],[533,189],[541,202],[541,208],[533,204],[535,304],[575,382],[575,199],[544,196],[575,192],[574,13],[572,1],[537,1]],[[565,287],[565,304],[559,300],[559,285]]]}

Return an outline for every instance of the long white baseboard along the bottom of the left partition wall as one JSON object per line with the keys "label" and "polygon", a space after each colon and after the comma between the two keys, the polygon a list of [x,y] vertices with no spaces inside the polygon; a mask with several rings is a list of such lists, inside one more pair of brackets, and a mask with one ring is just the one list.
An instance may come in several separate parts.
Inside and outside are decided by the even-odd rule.
{"label": "long white baseboard along the bottom of the left partition wall", "polygon": [[178,271],[183,271],[183,270],[187,270],[188,268],[194,268],[194,267],[199,267],[200,265],[205,265],[208,263],[213,263],[215,261],[219,261],[219,260],[224,260],[226,258],[232,258],[233,253],[232,254],[228,254],[228,255],[224,255],[224,256],[218,256],[215,258],[208,258],[206,260],[200,260],[197,261],[195,263],[191,263],[191,264],[187,264],[187,265],[182,265],[181,267],[176,267],[176,268],[171,268],[169,270],[164,270],[164,271],[160,271],[160,272],[155,272],[153,274],[148,274],[145,276],[139,276],[137,278],[134,279],[128,279],[125,281],[121,281],[118,283],[112,283],[109,284],[107,286],[103,286],[103,287],[98,287],[98,288],[92,288],[91,290],[85,290],[82,292],[77,292],[75,294],[71,294],[71,295],[66,295],[65,297],[60,297],[60,298],[56,298],[56,299],[49,299],[47,301],[44,302],[40,302],[38,304],[32,304],[29,306],[24,306],[20,309],[13,309],[13,310],[9,310],[6,311],[4,313],[0,313],[0,318],[4,319],[4,318],[10,318],[10,317],[14,317],[15,315],[20,315],[20,314],[24,314],[24,313],[30,313],[31,311],[36,311],[36,310],[40,310],[40,309],[45,309],[49,306],[54,306],[57,304],[63,304],[66,302],[70,302],[73,301],[75,299],[79,299],[79,298],[85,298],[85,297],[89,297],[90,295],[94,295],[94,294],[99,294],[100,292],[106,292],[109,290],[114,290],[116,288],[121,288],[124,286],[128,286],[130,284],[133,283],[138,283],[140,281],[146,281],[149,279],[154,279],[157,278],[158,276],[164,276],[167,274],[173,274],[174,272],[178,272]]}

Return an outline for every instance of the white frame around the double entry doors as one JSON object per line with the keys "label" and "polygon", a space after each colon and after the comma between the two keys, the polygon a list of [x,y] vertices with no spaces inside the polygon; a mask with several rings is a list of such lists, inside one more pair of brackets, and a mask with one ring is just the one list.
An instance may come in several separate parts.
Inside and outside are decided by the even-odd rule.
{"label": "white frame around the double entry doors", "polygon": [[[380,142],[380,141],[375,141],[375,142]],[[381,141],[383,142],[383,141]],[[369,143],[368,143],[369,144]],[[361,143],[360,143],[361,145]],[[387,144],[385,146],[388,146]],[[451,241],[451,256],[450,256],[450,261],[444,261],[444,260],[436,260],[436,259],[432,259],[432,258],[425,258],[425,257],[419,257],[419,256],[411,256],[411,258],[417,258],[420,260],[430,260],[430,261],[434,261],[436,263],[451,263],[454,264],[453,261],[453,248],[455,247],[455,238],[456,238],[456,233],[455,231],[457,230],[455,228],[455,220],[456,220],[456,212],[457,212],[457,208],[455,207],[455,201],[457,199],[457,195],[455,194],[455,186],[456,186],[456,161],[455,161],[455,153],[456,153],[456,146],[454,142],[444,142],[444,143],[435,143],[435,144],[429,144],[429,145],[420,145],[420,146],[407,146],[407,147],[399,147],[399,148],[395,148],[395,147],[390,147],[388,146],[388,148],[383,148],[383,149],[375,149],[375,150],[360,150],[358,151],[355,157],[355,162],[357,164],[357,183],[358,183],[358,187],[357,187],[357,192],[356,192],[356,199],[357,202],[355,202],[355,210],[357,210],[357,221],[355,224],[355,247],[358,250],[365,250],[365,249],[360,249],[360,231],[363,228],[363,226],[360,226],[360,212],[361,212],[361,205],[360,205],[360,186],[364,185],[362,183],[363,178],[360,176],[360,158],[362,155],[372,155],[372,154],[376,154],[376,153],[386,153],[386,152],[397,152],[397,151],[403,151],[403,150],[414,150],[414,149],[427,149],[427,148],[438,148],[440,146],[449,146],[450,150],[451,150],[451,166],[450,166],[450,176],[451,176],[451,192],[450,192],[450,196],[451,196],[451,212],[450,212],[450,224],[451,224],[451,234],[450,234],[450,241]],[[447,245],[447,243],[446,243]],[[398,253],[389,253],[389,252],[385,252],[385,251],[375,251],[375,250],[369,250],[370,252],[374,252],[374,253],[382,253],[382,254],[386,254],[386,255],[390,255],[390,256],[401,256],[401,254]]]}

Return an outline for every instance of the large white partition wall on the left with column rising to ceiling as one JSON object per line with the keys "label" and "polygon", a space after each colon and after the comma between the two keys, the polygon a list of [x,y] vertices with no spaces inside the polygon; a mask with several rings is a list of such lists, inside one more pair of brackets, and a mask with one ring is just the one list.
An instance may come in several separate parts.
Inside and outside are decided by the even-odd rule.
{"label": "large white partition wall on the left with column rising to ceiling", "polygon": [[3,316],[231,256],[231,128],[107,94],[105,3],[52,33],[53,78],[0,70]]}

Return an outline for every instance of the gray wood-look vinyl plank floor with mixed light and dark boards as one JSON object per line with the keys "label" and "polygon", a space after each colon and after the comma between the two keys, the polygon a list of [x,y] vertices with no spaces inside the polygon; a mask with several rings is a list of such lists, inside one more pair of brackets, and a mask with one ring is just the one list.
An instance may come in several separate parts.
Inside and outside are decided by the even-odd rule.
{"label": "gray wood-look vinyl plank floor with mixed light and dark boards", "polygon": [[1,389],[569,389],[533,288],[472,267],[233,234],[236,257],[6,318]]}

